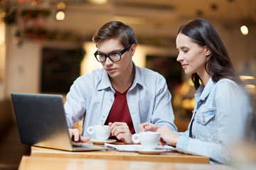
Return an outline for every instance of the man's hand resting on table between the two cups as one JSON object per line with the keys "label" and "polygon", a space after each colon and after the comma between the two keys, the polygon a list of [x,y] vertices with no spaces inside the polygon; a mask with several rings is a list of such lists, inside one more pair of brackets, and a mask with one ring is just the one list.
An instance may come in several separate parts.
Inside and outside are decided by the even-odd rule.
{"label": "man's hand resting on table between the two cups", "polygon": [[124,144],[132,144],[132,133],[127,123],[109,123],[112,136],[116,136],[118,140],[122,140]]}

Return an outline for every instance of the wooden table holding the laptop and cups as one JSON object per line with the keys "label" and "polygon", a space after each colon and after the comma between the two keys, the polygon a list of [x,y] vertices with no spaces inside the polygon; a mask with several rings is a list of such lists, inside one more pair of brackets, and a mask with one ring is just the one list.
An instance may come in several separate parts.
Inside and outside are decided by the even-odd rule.
{"label": "wooden table holding the laptop and cups", "polygon": [[161,154],[139,154],[137,152],[118,152],[113,149],[107,151],[68,152],[43,147],[31,147],[31,157],[89,158],[193,164],[209,164],[210,162],[209,157],[201,157],[191,154],[181,154],[180,152],[163,152]]}

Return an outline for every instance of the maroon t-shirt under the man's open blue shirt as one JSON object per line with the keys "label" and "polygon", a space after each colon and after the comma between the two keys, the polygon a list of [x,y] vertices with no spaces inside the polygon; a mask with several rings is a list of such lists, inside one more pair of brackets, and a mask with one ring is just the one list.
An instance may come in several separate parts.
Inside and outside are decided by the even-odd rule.
{"label": "maroon t-shirt under the man's open blue shirt", "polygon": [[[128,91],[129,89],[127,89]],[[127,91],[124,91],[123,94],[121,94],[119,91],[116,91],[114,94],[114,103],[110,110],[110,114],[107,117],[107,120],[105,122],[105,125],[108,125],[108,123],[114,123],[114,122],[124,122],[127,123],[129,126],[129,130],[132,134],[135,133],[134,126],[132,124],[132,117],[129,113],[129,108],[127,105]],[[110,134],[110,139],[117,140],[117,137],[113,137]],[[119,140],[117,140],[119,141]]]}

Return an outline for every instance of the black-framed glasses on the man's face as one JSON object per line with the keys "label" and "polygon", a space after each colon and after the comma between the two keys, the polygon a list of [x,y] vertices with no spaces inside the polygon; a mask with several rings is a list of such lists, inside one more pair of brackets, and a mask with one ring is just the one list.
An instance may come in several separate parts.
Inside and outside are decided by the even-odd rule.
{"label": "black-framed glasses on the man's face", "polygon": [[112,52],[108,55],[100,52],[95,52],[95,58],[97,59],[98,62],[105,62],[107,60],[107,57],[112,61],[112,62],[119,62],[121,60],[121,56],[124,54],[124,52],[127,52],[129,50],[129,47],[131,45],[127,45],[127,47],[124,48],[121,52]]}

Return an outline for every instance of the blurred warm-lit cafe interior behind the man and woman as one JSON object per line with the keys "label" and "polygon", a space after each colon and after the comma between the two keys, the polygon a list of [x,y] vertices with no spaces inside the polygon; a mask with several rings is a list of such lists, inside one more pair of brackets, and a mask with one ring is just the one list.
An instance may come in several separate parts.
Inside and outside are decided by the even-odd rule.
{"label": "blurred warm-lit cafe interior behind the man and woman", "polygon": [[11,93],[65,96],[77,77],[102,68],[92,35],[108,21],[134,28],[135,64],[166,78],[178,131],[186,130],[195,89],[176,62],[175,40],[178,28],[195,18],[220,32],[255,111],[255,0],[0,0],[0,169],[17,169],[29,154],[19,141]]}

